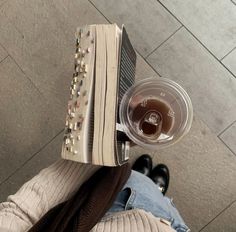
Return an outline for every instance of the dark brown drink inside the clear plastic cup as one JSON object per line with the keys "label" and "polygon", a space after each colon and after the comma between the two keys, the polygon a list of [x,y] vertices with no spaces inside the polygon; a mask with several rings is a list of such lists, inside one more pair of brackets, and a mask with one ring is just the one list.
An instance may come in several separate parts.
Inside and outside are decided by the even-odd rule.
{"label": "dark brown drink inside the clear plastic cup", "polygon": [[[172,112],[171,107],[165,102],[158,99],[148,99],[135,106],[131,120],[133,123],[139,124],[139,130],[142,130],[146,136],[156,134],[159,137],[161,133],[167,134],[171,130],[174,123]],[[156,124],[144,120],[145,116],[148,117],[149,113],[157,115]]]}

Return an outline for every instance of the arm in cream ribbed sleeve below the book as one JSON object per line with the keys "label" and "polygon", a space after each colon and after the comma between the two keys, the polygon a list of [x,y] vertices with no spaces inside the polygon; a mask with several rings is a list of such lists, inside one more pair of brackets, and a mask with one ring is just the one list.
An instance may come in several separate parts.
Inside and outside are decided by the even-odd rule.
{"label": "arm in cream ribbed sleeve below the book", "polygon": [[0,204],[0,231],[26,231],[49,209],[67,200],[99,166],[58,160]]}

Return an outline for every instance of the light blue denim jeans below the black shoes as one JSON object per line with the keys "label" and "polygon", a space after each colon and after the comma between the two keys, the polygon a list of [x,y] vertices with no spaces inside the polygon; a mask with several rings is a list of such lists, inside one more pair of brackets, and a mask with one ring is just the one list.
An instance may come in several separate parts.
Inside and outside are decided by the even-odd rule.
{"label": "light blue denim jeans below the black shoes", "polygon": [[129,209],[151,212],[156,217],[168,220],[172,228],[178,232],[190,231],[172,200],[163,196],[150,178],[136,171],[132,171],[108,213]]}

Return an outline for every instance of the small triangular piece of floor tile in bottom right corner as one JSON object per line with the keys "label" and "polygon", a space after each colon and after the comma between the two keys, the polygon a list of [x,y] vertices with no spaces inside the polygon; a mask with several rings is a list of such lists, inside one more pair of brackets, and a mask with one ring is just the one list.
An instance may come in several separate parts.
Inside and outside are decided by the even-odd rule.
{"label": "small triangular piece of floor tile in bottom right corner", "polygon": [[220,214],[214,221],[207,225],[201,232],[235,232],[236,203]]}

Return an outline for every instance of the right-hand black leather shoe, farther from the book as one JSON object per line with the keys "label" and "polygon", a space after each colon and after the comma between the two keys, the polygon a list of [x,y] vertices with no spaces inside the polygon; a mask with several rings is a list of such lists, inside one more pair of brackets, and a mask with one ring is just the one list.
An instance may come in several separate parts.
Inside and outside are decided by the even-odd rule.
{"label": "right-hand black leather shoe, farther from the book", "polygon": [[169,186],[170,181],[170,172],[168,167],[165,164],[158,164],[152,171],[149,176],[154,183],[159,185],[163,195],[166,194],[166,191]]}

